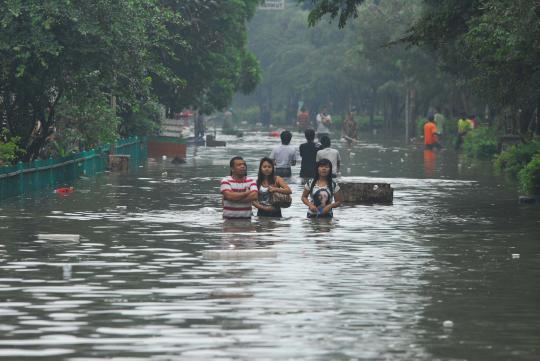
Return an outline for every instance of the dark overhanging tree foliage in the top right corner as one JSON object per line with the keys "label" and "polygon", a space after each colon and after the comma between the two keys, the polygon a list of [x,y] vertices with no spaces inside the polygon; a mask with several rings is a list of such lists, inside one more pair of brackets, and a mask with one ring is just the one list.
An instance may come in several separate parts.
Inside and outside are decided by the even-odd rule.
{"label": "dark overhanging tree foliage in the top right corner", "polygon": [[[386,18],[378,20],[382,20],[381,26],[392,29],[392,19],[400,14],[388,12],[389,6],[384,1],[300,2],[312,4],[311,25],[320,27],[328,15],[330,19],[339,19],[339,27],[347,25],[345,31],[357,28],[358,23],[362,26],[369,23],[369,19],[366,21],[363,17],[365,9],[370,9],[374,20],[377,20],[377,13],[386,13]],[[487,110],[490,126],[497,125],[497,128],[529,139],[540,133],[535,122],[535,112],[540,107],[538,1],[422,0],[418,3],[419,11],[411,18],[408,28],[400,30],[401,36],[394,38],[397,40],[394,44],[407,43],[411,51],[419,47],[436,59],[436,66],[454,84],[453,90],[447,93],[450,95],[446,98],[448,101],[442,104],[467,114],[483,114]],[[377,28],[371,30],[371,35],[382,37]],[[401,61],[401,57],[394,59]],[[422,60],[418,59],[418,62]],[[424,70],[427,78],[433,77],[429,65]],[[426,83],[426,77],[419,75],[413,73],[408,78],[415,87]],[[433,90],[436,94],[443,92],[440,87]],[[456,96],[461,99],[461,104],[456,101]],[[425,95],[416,99],[415,102],[430,101]]]}

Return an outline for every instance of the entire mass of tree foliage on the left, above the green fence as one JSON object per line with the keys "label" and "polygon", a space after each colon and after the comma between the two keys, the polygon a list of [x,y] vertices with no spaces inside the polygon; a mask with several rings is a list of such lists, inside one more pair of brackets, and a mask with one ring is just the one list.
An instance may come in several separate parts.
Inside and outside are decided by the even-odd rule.
{"label": "entire mass of tree foliage on the left, above the green fence", "polygon": [[245,46],[258,3],[3,1],[0,129],[31,160],[152,132],[159,104],[222,109],[260,80]]}

